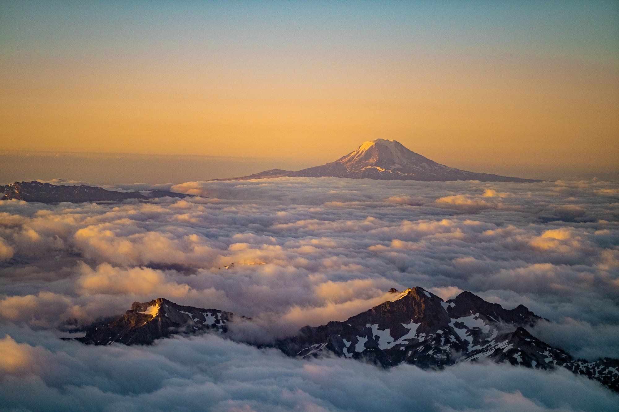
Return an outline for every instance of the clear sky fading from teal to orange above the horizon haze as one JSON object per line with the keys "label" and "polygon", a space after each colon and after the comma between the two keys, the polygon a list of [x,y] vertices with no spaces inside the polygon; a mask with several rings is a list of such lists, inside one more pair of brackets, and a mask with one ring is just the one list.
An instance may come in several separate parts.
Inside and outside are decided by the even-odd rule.
{"label": "clear sky fading from teal to orange above the horizon haze", "polygon": [[0,2],[5,150],[617,170],[619,2]]}

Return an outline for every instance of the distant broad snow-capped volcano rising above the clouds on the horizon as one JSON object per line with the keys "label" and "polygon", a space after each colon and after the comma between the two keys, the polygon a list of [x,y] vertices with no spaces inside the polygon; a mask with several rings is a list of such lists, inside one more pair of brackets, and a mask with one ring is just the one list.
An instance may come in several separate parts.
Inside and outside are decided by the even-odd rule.
{"label": "distant broad snow-capped volcano rising above the clouds on the horizon", "polygon": [[220,180],[250,180],[269,178],[334,178],[450,181],[478,180],[482,182],[539,182],[534,179],[511,178],[498,174],[475,173],[441,165],[396,142],[376,139],[361,144],[354,152],[322,166],[299,171],[272,169],[241,178]]}

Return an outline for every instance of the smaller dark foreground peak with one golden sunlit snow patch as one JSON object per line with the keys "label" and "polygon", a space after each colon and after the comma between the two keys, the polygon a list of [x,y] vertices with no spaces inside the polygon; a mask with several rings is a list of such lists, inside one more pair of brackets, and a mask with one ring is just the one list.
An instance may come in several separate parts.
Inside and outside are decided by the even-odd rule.
{"label": "smaller dark foreground peak with one golden sunlit snow patch", "polygon": [[149,345],[156,339],[178,333],[226,332],[226,324],[232,317],[230,312],[181,306],[158,298],[145,303],[134,302],[122,317],[110,324],[90,327],[86,336],[77,340],[92,345],[113,342]]}

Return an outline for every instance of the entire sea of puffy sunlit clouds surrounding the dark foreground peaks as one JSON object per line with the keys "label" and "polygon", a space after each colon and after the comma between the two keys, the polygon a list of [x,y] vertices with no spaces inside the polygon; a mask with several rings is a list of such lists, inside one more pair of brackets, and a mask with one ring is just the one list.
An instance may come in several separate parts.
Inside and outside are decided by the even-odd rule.
{"label": "entire sea of puffy sunlit clouds surrounding the dark foreground peaks", "polygon": [[[170,188],[171,185],[159,185]],[[127,184],[121,190],[145,190]],[[122,204],[0,201],[0,408],[14,410],[616,410],[571,372],[495,364],[389,370],[286,358],[268,343],[422,286],[548,319],[576,358],[619,358],[619,186],[279,178],[186,182]],[[234,263],[233,267],[225,266]],[[84,346],[134,301],[247,315],[235,341]]]}

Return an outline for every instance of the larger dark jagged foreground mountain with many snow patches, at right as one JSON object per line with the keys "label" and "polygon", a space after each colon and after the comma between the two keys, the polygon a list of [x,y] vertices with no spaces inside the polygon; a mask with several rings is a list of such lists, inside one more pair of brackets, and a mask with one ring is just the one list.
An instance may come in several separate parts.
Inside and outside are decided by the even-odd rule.
{"label": "larger dark jagged foreground mountain with many snow patches, at right", "polygon": [[467,361],[493,361],[535,369],[564,366],[618,390],[617,359],[575,361],[535,338],[525,327],[542,318],[525,306],[506,310],[470,292],[443,301],[416,287],[344,322],[301,328],[277,343],[290,356],[335,353],[382,366],[401,363],[442,368]]}

